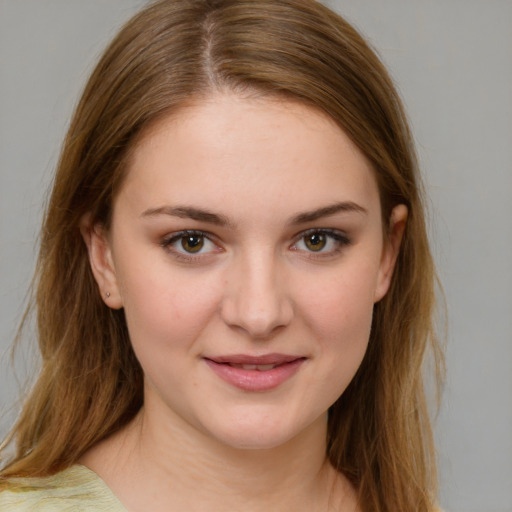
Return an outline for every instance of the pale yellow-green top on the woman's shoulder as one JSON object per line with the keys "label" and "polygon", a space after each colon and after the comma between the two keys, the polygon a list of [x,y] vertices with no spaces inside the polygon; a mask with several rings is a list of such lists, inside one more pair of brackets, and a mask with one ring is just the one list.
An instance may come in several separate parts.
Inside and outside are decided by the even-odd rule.
{"label": "pale yellow-green top on the woman's shoulder", "polygon": [[42,478],[13,478],[0,487],[2,512],[126,512],[105,483],[85,466]]}

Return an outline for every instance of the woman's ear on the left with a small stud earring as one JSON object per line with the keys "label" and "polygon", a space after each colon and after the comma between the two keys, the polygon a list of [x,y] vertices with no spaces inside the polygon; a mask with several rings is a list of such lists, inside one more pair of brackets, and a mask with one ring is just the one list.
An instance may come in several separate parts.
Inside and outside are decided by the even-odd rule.
{"label": "woman's ear on the left with a small stud earring", "polygon": [[85,216],[80,224],[80,232],[87,246],[89,263],[101,298],[112,309],[122,308],[111,244],[105,228],[101,224],[92,224],[90,217]]}

